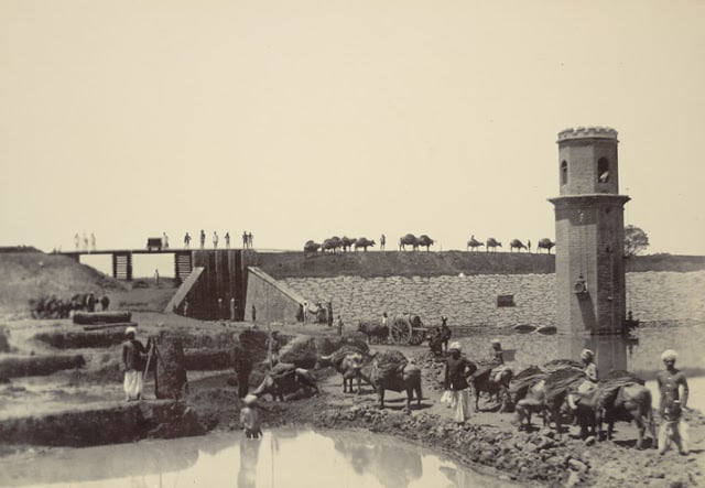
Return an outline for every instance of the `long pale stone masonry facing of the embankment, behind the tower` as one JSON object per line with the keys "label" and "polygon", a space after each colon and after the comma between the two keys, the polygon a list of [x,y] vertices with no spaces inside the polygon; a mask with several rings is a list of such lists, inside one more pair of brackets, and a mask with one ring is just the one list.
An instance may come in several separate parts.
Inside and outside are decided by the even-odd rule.
{"label": "long pale stone masonry facing of the embankment, behind the tower", "polygon": [[[361,318],[410,312],[425,325],[497,329],[519,324],[558,325],[555,274],[492,274],[435,278],[337,276],[283,279],[310,303],[333,302],[348,326]],[[497,295],[513,294],[514,305],[497,306]],[[705,271],[627,273],[627,310],[641,322],[705,322]]]}

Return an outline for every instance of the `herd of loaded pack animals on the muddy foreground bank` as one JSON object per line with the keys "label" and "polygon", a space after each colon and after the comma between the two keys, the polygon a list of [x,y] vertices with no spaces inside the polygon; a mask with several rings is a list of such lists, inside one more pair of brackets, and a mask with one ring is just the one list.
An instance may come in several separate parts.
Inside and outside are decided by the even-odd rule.
{"label": "herd of loaded pack animals on the muddy foreground bank", "polygon": [[[445,339],[445,336],[438,335],[437,338]],[[434,353],[435,356],[444,355],[443,349]],[[593,435],[601,440],[601,425],[606,422],[606,437],[609,440],[615,421],[633,421],[638,429],[636,447],[643,446],[647,429],[652,437],[652,447],[657,444],[651,393],[643,381],[627,371],[610,372],[592,393],[581,397],[574,411],[568,406],[567,394],[584,381],[582,367],[574,361],[554,360],[541,367],[532,366],[518,375],[507,366],[500,367],[500,370],[494,369],[496,365],[482,361],[470,361],[470,365],[468,382],[475,394],[475,410],[479,411],[478,402],[482,393],[490,399],[495,397],[499,403],[498,412],[516,412],[513,423],[520,431],[531,430],[531,415],[536,413],[543,417],[544,427],[555,429],[557,435],[575,419],[583,438]],[[371,387],[378,395],[380,408],[384,406],[386,390],[405,391],[408,410],[414,395],[416,405],[421,405],[422,370],[413,359],[408,359],[398,350],[370,354],[357,345],[344,345],[330,355],[318,357],[315,368],[325,367],[333,367],[340,375],[344,393],[352,393],[352,383],[356,381],[358,394],[361,393],[362,383]],[[265,379],[257,392],[283,399],[281,393],[300,388],[304,388],[308,394],[318,391],[315,377],[307,370],[293,369],[292,365],[288,375]]]}

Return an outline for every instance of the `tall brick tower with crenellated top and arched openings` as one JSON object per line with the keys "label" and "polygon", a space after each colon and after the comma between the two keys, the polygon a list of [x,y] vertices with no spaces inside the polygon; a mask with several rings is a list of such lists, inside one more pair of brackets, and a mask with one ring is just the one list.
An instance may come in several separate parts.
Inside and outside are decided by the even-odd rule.
{"label": "tall brick tower with crenellated top and arched openings", "polygon": [[[588,127],[558,133],[555,207],[558,351],[577,359],[593,348],[600,371],[627,369],[623,206],[617,131]],[[609,337],[611,336],[611,338]]]}

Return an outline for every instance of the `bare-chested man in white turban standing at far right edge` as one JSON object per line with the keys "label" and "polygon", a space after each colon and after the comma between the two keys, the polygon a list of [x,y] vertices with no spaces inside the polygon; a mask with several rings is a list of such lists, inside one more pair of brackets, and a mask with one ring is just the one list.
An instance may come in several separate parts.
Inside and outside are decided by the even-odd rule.
{"label": "bare-chested man in white turban standing at far right edge", "polygon": [[679,452],[685,455],[688,453],[687,424],[681,419],[681,414],[687,405],[688,389],[685,375],[675,369],[675,358],[676,354],[673,349],[664,350],[661,360],[665,369],[657,375],[661,393],[659,414],[663,421],[659,429],[659,454],[664,454],[673,441]]}

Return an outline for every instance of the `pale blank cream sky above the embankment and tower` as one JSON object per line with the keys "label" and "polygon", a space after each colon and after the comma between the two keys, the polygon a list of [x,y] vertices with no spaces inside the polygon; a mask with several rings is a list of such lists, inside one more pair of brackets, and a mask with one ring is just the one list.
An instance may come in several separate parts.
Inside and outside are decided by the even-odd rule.
{"label": "pale blank cream sky above the embankment and tower", "polygon": [[704,87],[696,1],[0,0],[0,246],[535,246],[609,126],[625,221],[703,254]]}

